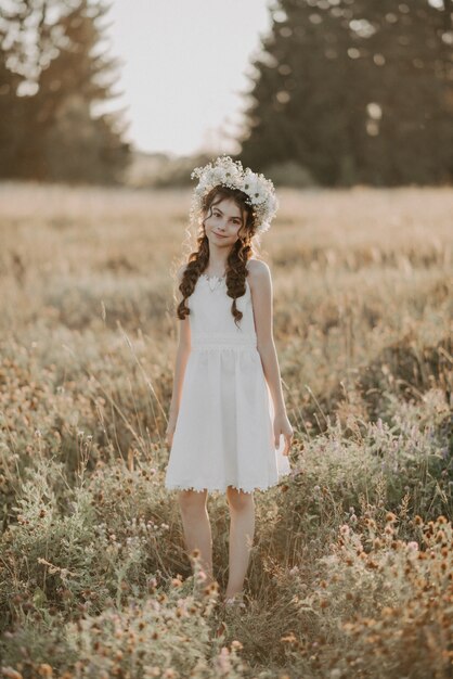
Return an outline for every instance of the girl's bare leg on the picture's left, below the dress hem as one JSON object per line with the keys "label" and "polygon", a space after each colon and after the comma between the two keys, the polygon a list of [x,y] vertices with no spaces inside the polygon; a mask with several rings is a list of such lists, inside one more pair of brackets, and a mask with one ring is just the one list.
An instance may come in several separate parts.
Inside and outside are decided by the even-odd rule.
{"label": "girl's bare leg on the picture's left, below the dress hem", "polygon": [[181,512],[187,554],[199,550],[200,564],[207,575],[206,585],[213,582],[212,538],[209,515],[206,507],[208,491],[180,490],[178,501]]}

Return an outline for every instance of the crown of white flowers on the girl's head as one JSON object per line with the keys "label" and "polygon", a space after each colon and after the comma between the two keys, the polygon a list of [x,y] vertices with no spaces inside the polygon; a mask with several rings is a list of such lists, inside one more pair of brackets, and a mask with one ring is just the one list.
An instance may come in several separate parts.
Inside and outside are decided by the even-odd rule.
{"label": "crown of white flowers on the girl's head", "polygon": [[253,207],[257,233],[263,233],[270,226],[279,208],[275,189],[270,179],[253,172],[249,167],[244,171],[241,161],[232,161],[228,155],[219,156],[213,165],[196,167],[191,179],[197,178],[192,197],[191,214],[197,217],[202,213],[204,196],[215,187],[223,185],[241,189],[248,196],[248,205]]}

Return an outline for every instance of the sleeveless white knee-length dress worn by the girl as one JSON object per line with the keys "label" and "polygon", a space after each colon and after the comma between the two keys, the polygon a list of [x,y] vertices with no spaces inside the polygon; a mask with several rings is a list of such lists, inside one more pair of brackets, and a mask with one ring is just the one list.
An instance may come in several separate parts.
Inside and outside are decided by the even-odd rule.
{"label": "sleeveless white knee-length dress worn by the girl", "polygon": [[189,355],[165,476],[168,489],[264,490],[290,472],[284,436],[274,446],[274,407],[257,349],[253,300],[236,299],[224,278],[202,273],[186,304]]}

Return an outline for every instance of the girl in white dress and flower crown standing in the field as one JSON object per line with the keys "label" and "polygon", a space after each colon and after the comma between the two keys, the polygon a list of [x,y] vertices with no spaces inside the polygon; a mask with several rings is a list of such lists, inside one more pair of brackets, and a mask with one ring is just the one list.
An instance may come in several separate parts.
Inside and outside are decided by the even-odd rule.
{"label": "girl in white dress and flower crown standing in the field", "polygon": [[182,322],[165,486],[179,490],[187,552],[198,549],[208,584],[215,578],[207,494],[226,492],[230,564],[223,602],[244,606],[254,490],[290,472],[293,427],[272,335],[271,274],[253,256],[254,239],[270,228],[277,201],[270,180],[244,171],[229,156],[196,168],[194,177],[197,249],[178,271]]}

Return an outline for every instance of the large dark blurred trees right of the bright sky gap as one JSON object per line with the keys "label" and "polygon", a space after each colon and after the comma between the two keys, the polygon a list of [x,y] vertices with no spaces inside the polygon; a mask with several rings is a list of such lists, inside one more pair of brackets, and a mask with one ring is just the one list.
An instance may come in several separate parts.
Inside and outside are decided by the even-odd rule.
{"label": "large dark blurred trees right of the bright sky gap", "polygon": [[451,0],[280,0],[242,161],[324,185],[451,183]]}

